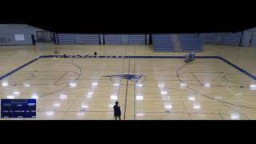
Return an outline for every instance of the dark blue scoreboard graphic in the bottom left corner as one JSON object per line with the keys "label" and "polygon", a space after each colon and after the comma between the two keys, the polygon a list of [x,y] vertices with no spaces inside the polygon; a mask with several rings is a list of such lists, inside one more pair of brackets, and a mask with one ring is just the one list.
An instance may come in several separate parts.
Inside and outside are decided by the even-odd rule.
{"label": "dark blue scoreboard graphic in the bottom left corner", "polygon": [[36,118],[36,99],[2,99],[1,118]]}

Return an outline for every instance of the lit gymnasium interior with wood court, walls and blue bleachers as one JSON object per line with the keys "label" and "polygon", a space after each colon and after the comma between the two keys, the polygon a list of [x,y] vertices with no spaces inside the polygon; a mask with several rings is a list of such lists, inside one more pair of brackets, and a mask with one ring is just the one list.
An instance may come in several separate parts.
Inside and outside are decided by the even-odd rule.
{"label": "lit gymnasium interior with wood court, walls and blue bleachers", "polygon": [[0,24],[0,120],[114,120],[117,101],[122,120],[254,120],[255,54],[254,27],[72,34]]}

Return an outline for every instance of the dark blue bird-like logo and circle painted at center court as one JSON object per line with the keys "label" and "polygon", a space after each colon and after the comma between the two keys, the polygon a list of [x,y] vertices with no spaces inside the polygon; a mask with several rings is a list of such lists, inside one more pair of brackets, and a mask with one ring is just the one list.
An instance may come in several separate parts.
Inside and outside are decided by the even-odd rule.
{"label": "dark blue bird-like logo and circle painted at center court", "polygon": [[106,75],[103,77],[110,77],[110,80],[114,83],[120,83],[122,79],[126,79],[129,81],[133,81],[136,84],[142,83],[146,80],[146,77],[143,74],[113,74],[113,75]]}

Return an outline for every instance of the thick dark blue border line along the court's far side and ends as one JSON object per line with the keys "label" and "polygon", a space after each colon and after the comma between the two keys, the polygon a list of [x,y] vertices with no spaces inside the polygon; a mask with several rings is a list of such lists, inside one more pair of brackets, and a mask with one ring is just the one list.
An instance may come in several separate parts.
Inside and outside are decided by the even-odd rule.
{"label": "thick dark blue border line along the court's far side and ends", "polygon": [[[30,62],[26,62],[24,65],[19,66],[18,68],[11,70],[9,73],[4,74],[0,77],[0,81],[11,74],[14,74],[18,70],[21,70],[22,68],[30,65],[33,62],[36,62],[39,58],[63,58],[63,55],[42,55],[39,56],[38,58],[34,58]],[[66,55],[66,58],[80,58],[77,55]],[[185,56],[82,56],[81,58],[185,58]],[[243,70],[239,66],[234,65],[233,63],[229,62],[225,58],[219,57],[219,56],[196,56],[195,58],[202,58],[202,59],[207,59],[207,58],[212,58],[212,59],[221,59],[223,62],[226,62],[228,65],[234,67],[236,70],[241,71],[243,74],[246,74],[248,77],[253,78],[256,81],[256,77],[253,74],[250,74],[246,70]]]}

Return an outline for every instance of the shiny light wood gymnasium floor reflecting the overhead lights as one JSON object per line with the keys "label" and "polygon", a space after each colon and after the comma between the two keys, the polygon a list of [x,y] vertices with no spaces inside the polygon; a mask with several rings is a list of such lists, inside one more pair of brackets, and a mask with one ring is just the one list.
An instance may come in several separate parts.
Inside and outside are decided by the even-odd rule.
{"label": "shiny light wood gymnasium floor reflecting the overhead lights", "polygon": [[[256,48],[206,46],[256,75]],[[0,76],[43,54],[184,55],[152,46],[0,46]],[[136,74],[136,80],[110,78]],[[6,86],[6,83],[8,86]],[[256,81],[219,59],[40,58],[1,81],[1,98],[36,98],[36,119],[256,119]]]}

